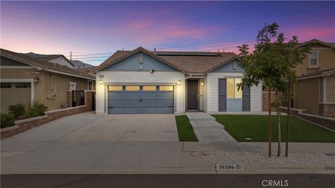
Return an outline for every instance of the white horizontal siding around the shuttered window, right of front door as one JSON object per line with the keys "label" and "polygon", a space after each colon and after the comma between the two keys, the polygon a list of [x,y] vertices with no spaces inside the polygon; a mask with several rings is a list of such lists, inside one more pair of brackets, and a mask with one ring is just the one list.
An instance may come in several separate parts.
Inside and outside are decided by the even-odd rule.
{"label": "white horizontal siding around the shuttered window, right of front door", "polygon": [[[218,79],[243,77],[241,72],[212,72],[207,75],[207,111],[218,111]],[[262,85],[251,87],[251,111],[262,110]]]}

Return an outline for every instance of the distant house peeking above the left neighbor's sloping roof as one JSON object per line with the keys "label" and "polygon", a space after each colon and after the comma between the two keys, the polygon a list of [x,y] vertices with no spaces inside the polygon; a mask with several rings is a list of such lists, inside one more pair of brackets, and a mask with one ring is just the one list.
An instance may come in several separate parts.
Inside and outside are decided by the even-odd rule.
{"label": "distant house peeking above the left neighbor's sloping roof", "polygon": [[31,56],[33,58],[38,58],[40,60],[49,61],[50,63],[58,63],[59,65],[66,65],[69,68],[75,68],[75,65],[68,60],[64,55],[61,54],[35,54],[33,52],[29,52],[24,54],[27,56]]}

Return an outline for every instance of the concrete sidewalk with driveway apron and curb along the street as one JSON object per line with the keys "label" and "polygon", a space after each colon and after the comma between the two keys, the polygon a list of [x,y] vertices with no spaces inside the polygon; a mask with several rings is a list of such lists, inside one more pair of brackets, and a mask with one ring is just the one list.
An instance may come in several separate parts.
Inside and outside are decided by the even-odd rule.
{"label": "concrete sidewalk with driveway apron and curb along the street", "polygon": [[[31,146],[29,146],[31,144]],[[1,173],[334,173],[334,166],[244,165],[244,171],[216,171],[197,151],[266,151],[267,143],[166,141],[29,141],[2,143]],[[25,150],[13,151],[13,148]],[[275,143],[273,148],[275,150]],[[290,143],[290,152],[335,152],[334,143]],[[330,168],[330,169],[329,169]]]}

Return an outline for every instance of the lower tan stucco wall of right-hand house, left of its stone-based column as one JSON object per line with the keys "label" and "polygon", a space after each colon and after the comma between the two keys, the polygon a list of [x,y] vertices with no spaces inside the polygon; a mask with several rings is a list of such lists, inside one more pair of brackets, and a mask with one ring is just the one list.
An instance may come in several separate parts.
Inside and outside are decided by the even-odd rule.
{"label": "lower tan stucco wall of right-hand house, left of its stone-based column", "polygon": [[295,88],[295,108],[319,113],[319,78],[301,79]]}

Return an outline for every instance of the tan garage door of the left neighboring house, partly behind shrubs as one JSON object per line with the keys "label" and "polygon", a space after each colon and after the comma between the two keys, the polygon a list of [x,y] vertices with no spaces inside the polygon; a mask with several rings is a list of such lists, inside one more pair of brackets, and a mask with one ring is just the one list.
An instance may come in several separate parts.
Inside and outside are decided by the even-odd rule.
{"label": "tan garage door of the left neighboring house, partly behind shrubs", "polygon": [[31,83],[1,82],[1,113],[6,113],[12,104],[31,104]]}

